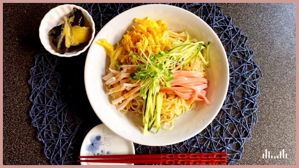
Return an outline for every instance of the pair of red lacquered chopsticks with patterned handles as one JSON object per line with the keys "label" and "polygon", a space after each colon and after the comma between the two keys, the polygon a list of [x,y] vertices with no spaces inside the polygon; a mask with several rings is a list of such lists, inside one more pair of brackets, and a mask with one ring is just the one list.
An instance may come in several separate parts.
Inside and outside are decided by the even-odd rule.
{"label": "pair of red lacquered chopsticks with patterned handles", "polygon": [[145,155],[79,156],[78,162],[133,163],[162,165],[226,165],[226,153],[178,153]]}

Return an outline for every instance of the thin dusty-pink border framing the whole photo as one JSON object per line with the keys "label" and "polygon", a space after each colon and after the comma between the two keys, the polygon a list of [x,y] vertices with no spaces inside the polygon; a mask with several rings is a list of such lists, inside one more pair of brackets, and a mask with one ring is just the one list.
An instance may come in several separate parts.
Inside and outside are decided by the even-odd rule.
{"label": "thin dusty-pink border framing the whole photo", "polygon": [[[1,97],[0,97],[0,110],[1,110],[1,113],[0,113],[0,136],[1,136],[1,143],[0,143],[0,166],[1,167],[32,167],[32,166],[2,166],[3,165],[3,3],[36,3],[36,2],[40,2],[39,0],[27,0],[27,1],[22,1],[22,0],[2,0],[2,3],[0,4],[0,10],[2,12],[0,12],[0,16],[1,16],[1,22],[0,22],[0,29],[2,31],[2,33],[0,33],[0,37],[1,37],[1,45],[0,45],[0,61],[1,61],[1,64],[0,64],[0,79],[1,79],[1,86],[0,86],[0,94],[1,94]],[[45,0],[44,2],[48,2],[48,3],[80,3],[82,2],[82,0],[73,0],[73,1],[70,1],[70,0]],[[87,1],[88,3],[98,3],[99,1],[96,1],[96,0],[89,0]],[[114,0],[114,1],[111,1],[111,0],[102,0],[100,1],[102,3],[108,3],[108,2],[124,2],[122,0]],[[140,2],[139,0],[129,0],[129,1],[126,1],[127,3],[135,3],[135,2]],[[149,1],[147,1],[149,2]],[[150,2],[163,2],[163,3],[167,3],[167,2],[183,2],[183,1],[179,1],[179,0],[164,0],[164,1],[161,1],[161,0],[152,0]],[[191,2],[202,2],[202,1],[196,1],[196,0],[189,0],[188,3],[191,3]],[[218,2],[218,3],[223,3],[224,1],[221,1],[221,0],[211,0],[209,2]],[[296,3],[296,0],[244,0],[243,3],[269,3],[269,2],[274,2],[274,3]],[[85,2],[86,3],[86,2]],[[225,0],[225,3],[240,3],[239,0]],[[296,8],[296,23],[298,22],[298,9]],[[297,26],[296,26],[297,27]],[[299,30],[296,29],[296,34],[299,33]],[[297,37],[296,35],[296,40],[298,41],[299,38]],[[298,58],[298,43],[296,44],[296,71],[299,70],[299,62],[297,60]],[[296,75],[296,83],[299,82],[298,81],[298,77],[299,77],[299,74]],[[298,96],[298,88],[297,88],[297,85],[296,85],[296,100],[298,100],[299,96]],[[297,112],[297,109],[299,107],[299,103],[298,101],[296,101],[296,123],[299,123],[299,117],[298,117],[298,112]],[[299,130],[299,126],[298,124],[296,125],[296,139],[299,138],[299,135],[298,135],[298,130]],[[298,141],[296,141],[296,153],[298,153]],[[26,157],[26,156],[24,156]],[[296,165],[290,165],[290,166],[287,166],[287,167],[297,167],[297,164],[298,164],[298,154],[296,155]],[[34,159],[34,158],[32,158]],[[254,158],[252,158],[254,159]],[[254,167],[282,167],[284,165],[276,165],[276,166],[271,166],[271,165],[265,165],[265,166],[261,166],[261,165],[257,165]],[[40,165],[36,165],[36,166],[33,166],[33,167],[48,167],[48,166],[40,166]],[[57,167],[57,166],[56,166]],[[59,166],[59,167],[74,167],[74,166]],[[77,167],[77,166],[76,166]],[[98,166],[92,166],[92,167],[98,167]],[[106,166],[105,166],[106,167]],[[118,166],[107,166],[107,167],[118,167]],[[134,166],[126,166],[126,167],[134,167]],[[135,167],[145,167],[145,166],[135,166]],[[150,166],[150,167],[153,167],[153,166]],[[163,166],[163,167],[169,167],[169,166]],[[187,166],[179,166],[179,167],[187,167]],[[189,167],[189,166],[188,166]],[[209,166],[211,167],[211,166]],[[216,166],[212,166],[212,167],[216,167]],[[231,165],[230,167],[233,167],[233,165]],[[237,167],[237,166],[234,166],[234,167]],[[239,167],[239,166],[238,166]],[[241,166],[241,167],[253,167],[253,166],[249,166],[249,165],[244,165],[244,166]],[[284,166],[285,167],[285,166]]]}

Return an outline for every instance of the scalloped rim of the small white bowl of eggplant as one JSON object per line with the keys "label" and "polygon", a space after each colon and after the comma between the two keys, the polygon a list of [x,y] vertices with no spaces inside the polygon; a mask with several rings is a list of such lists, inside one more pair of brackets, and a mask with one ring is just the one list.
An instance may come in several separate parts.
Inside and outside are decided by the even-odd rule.
{"label": "scalloped rim of the small white bowl of eggplant", "polygon": [[[76,7],[76,8],[78,8],[78,9],[80,9],[81,11],[84,11],[84,12],[86,12],[87,13],[87,15],[84,15],[84,16],[86,16],[86,17],[88,17],[90,20],[91,20],[91,26],[92,26],[92,35],[91,35],[91,39],[89,40],[89,42],[88,42],[88,44],[83,48],[83,49],[81,49],[81,50],[79,50],[77,53],[74,53],[74,54],[69,54],[69,55],[66,55],[66,54],[60,54],[60,53],[57,53],[56,51],[54,51],[54,50],[48,50],[48,49],[46,49],[45,48],[45,44],[42,42],[42,38],[41,38],[41,25],[42,25],[42,23],[45,21],[45,16],[47,16],[47,15],[49,15],[49,13],[50,12],[52,12],[52,11],[54,11],[56,8],[63,8],[64,6],[71,6],[71,7]],[[73,56],[77,56],[77,55],[80,55],[80,54],[82,54],[83,52],[85,52],[87,49],[88,49],[88,47],[92,44],[92,42],[93,42],[93,39],[94,39],[94,37],[95,37],[95,32],[96,32],[96,30],[95,30],[95,23],[94,23],[94,21],[93,21],[93,17],[89,14],[89,12],[87,11],[87,10],[85,10],[84,8],[82,8],[82,7],[80,7],[80,6],[77,6],[77,5],[74,5],[74,4],[63,4],[63,5],[58,5],[57,7],[54,7],[54,8],[52,8],[52,9],[50,9],[50,11],[49,12],[47,12],[46,14],[45,14],[45,16],[43,17],[43,19],[40,21],[40,27],[39,27],[39,38],[40,38],[40,42],[41,42],[41,44],[44,46],[44,48],[49,52],[49,53],[51,53],[51,54],[53,54],[53,55],[57,55],[57,56],[59,56],[59,57],[73,57]]]}

